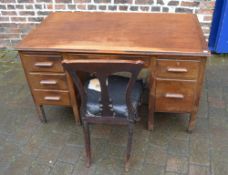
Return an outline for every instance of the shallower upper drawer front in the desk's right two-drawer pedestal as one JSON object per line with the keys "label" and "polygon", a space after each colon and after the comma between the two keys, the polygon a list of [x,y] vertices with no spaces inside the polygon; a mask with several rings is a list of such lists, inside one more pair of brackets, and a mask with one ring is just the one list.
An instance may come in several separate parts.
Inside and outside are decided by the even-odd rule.
{"label": "shallower upper drawer front in the desk's right two-drawer pedestal", "polygon": [[157,76],[161,78],[196,79],[200,62],[184,60],[157,60]]}

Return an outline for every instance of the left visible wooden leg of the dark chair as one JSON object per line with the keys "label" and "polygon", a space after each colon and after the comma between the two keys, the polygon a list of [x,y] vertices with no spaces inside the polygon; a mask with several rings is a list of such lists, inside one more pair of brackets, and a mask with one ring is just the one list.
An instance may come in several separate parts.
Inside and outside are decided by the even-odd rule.
{"label": "left visible wooden leg of the dark chair", "polygon": [[83,122],[83,132],[84,132],[84,140],[85,140],[86,167],[89,168],[91,165],[91,147],[90,147],[89,124],[87,122]]}

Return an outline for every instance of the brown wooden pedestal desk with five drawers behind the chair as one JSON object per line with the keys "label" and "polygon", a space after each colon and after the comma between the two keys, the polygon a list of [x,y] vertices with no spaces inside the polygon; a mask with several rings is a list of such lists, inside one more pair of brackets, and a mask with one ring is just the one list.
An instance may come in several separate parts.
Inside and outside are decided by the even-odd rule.
{"label": "brown wooden pedestal desk with five drawers behind the chair", "polygon": [[190,113],[194,128],[209,55],[195,15],[52,13],[17,49],[41,119],[47,104],[72,106],[79,121],[62,59],[140,59],[150,70],[148,128],[155,111]]}

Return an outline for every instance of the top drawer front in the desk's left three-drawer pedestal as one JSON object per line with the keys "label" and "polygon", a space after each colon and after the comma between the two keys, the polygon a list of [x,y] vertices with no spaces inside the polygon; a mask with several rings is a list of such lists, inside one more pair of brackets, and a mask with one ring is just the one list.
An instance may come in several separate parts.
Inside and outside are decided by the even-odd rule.
{"label": "top drawer front in the desk's left three-drawer pedestal", "polygon": [[64,72],[61,55],[21,54],[27,72]]}

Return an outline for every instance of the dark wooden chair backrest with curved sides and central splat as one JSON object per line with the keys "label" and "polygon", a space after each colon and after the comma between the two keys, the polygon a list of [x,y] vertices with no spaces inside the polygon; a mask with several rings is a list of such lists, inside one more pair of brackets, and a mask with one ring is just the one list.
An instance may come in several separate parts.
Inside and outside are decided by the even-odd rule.
{"label": "dark wooden chair backrest with curved sides and central splat", "polygon": [[[82,117],[86,117],[86,102],[87,94],[84,89],[84,85],[80,78],[78,77],[77,72],[86,72],[92,75],[95,75],[100,82],[101,87],[101,99],[100,106],[102,107],[102,116],[101,117],[113,117],[113,110],[111,109],[112,100],[109,97],[107,78],[118,72],[129,72],[131,77],[126,88],[126,105],[128,109],[128,116],[131,117],[134,115],[133,106],[131,102],[131,93],[134,86],[134,83],[137,79],[137,76],[140,70],[144,66],[143,61],[132,61],[132,60],[63,60],[63,67],[71,75],[74,84],[76,85],[78,92],[81,98],[81,107],[80,112]],[[132,118],[128,118],[133,120]]]}

